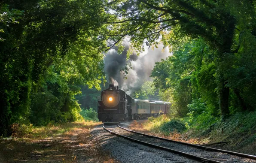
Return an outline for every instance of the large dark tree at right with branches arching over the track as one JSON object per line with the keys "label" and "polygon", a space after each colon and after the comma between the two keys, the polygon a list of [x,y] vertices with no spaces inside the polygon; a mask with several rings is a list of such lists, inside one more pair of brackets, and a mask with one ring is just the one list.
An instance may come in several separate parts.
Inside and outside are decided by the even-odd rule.
{"label": "large dark tree at right with branches arching over the track", "polygon": [[[112,33],[118,37],[117,41],[131,36],[134,47],[141,50],[144,39],[147,45],[153,45],[161,38],[168,46],[175,44],[170,38],[172,34],[191,38],[200,36],[216,50],[219,108],[223,118],[229,114],[230,88],[220,63],[227,55],[234,55],[239,50],[241,44],[236,42],[235,33],[246,28],[251,34],[255,31],[254,3],[246,0],[235,3],[226,0],[125,0],[111,3],[116,11],[113,14],[116,21],[107,23],[118,31],[118,34]],[[240,11],[248,11],[247,17],[251,19],[246,24],[238,12],[232,10],[234,4],[240,4]]]}

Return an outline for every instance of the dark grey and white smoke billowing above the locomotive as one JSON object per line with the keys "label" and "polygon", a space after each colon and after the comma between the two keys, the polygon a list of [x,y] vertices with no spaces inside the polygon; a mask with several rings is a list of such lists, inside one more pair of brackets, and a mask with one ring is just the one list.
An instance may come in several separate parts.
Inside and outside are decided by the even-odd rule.
{"label": "dark grey and white smoke billowing above the locomotive", "polygon": [[[127,94],[131,94],[132,91],[137,90],[143,85],[144,82],[152,80],[149,76],[155,66],[155,62],[161,61],[170,56],[168,48],[162,51],[163,45],[159,45],[158,48],[145,49],[139,56],[132,54],[129,60],[126,60],[127,50],[129,48],[128,38],[123,42],[125,50],[122,54],[118,54],[116,50],[111,49],[104,57],[105,68],[104,71],[107,75],[109,83],[119,85],[123,91]],[[123,79],[123,72],[119,70],[124,68],[127,62],[131,62],[132,69],[129,69],[127,79]]]}

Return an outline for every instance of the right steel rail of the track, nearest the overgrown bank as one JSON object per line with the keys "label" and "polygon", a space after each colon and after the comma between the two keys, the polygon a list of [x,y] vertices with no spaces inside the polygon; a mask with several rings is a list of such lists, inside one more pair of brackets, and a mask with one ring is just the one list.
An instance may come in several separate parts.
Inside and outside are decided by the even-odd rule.
{"label": "right steel rail of the track, nearest the overgrown bank", "polygon": [[204,147],[202,145],[195,145],[195,144],[189,144],[189,143],[186,143],[186,142],[179,142],[179,141],[175,141],[175,140],[171,140],[171,139],[165,139],[165,138],[161,138],[161,137],[152,136],[152,135],[148,135],[148,134],[145,134],[145,133],[139,133],[139,132],[136,132],[136,131],[133,131],[133,130],[129,130],[127,128],[119,126],[119,124],[118,124],[118,127],[122,128],[123,130],[129,131],[131,133],[137,133],[137,134],[141,134],[143,136],[148,136],[148,137],[151,137],[151,138],[157,138],[157,139],[166,140],[166,141],[169,141],[169,142],[176,142],[176,143],[183,144],[183,145],[189,145],[189,146],[192,146],[192,147],[206,149],[208,151],[219,151],[219,152],[223,152],[223,153],[227,153],[227,154],[236,155],[236,156],[239,156],[239,157],[246,157],[246,158],[256,160],[256,156],[250,155],[250,154],[242,154],[242,153],[238,153],[238,152],[226,151],[226,150],[217,149],[217,148]]}

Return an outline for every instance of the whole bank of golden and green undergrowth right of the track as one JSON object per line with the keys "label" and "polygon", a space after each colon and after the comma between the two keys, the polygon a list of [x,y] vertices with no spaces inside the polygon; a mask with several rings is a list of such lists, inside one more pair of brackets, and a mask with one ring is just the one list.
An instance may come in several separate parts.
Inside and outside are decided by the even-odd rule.
{"label": "whole bank of golden and green undergrowth right of the track", "polygon": [[[188,114],[185,118],[168,118],[161,115],[148,121],[134,121],[132,130],[162,136],[194,144],[215,144],[224,142],[217,148],[256,154],[256,111],[237,112],[224,121],[210,113]],[[214,146],[215,147],[215,146]]]}

